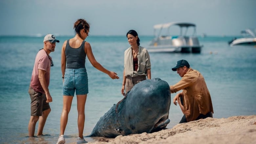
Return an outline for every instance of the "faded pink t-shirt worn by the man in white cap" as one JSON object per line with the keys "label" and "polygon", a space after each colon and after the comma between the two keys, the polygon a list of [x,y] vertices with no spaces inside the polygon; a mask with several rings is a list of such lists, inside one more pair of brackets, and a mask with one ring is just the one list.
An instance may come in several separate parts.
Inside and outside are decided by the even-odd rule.
{"label": "faded pink t-shirt worn by the man in white cap", "polygon": [[40,50],[35,57],[35,64],[32,71],[30,86],[36,92],[45,94],[38,78],[38,69],[46,71],[45,80],[46,80],[47,87],[50,84],[51,59],[52,58],[50,56],[48,57],[45,50]]}

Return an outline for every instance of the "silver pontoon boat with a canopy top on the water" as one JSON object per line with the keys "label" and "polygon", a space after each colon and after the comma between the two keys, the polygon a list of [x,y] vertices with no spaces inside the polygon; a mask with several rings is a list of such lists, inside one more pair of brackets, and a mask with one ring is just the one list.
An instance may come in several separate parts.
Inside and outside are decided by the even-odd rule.
{"label": "silver pontoon boat with a canopy top on the water", "polygon": [[[180,27],[180,35],[171,35],[169,30],[171,26]],[[191,35],[186,35],[188,28],[194,28]],[[182,30],[185,29],[184,32]],[[161,31],[166,30],[166,35],[162,35]],[[156,33],[159,33],[156,35]],[[149,52],[184,52],[184,53],[200,53],[202,45],[199,44],[196,34],[196,25],[187,22],[172,22],[166,24],[158,24],[154,26],[155,38],[150,41],[147,50]]]}

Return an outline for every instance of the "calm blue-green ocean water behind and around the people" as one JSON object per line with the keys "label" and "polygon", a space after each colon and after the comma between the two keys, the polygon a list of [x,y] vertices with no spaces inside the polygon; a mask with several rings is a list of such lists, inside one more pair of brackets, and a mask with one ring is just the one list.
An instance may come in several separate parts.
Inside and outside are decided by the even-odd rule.
{"label": "calm blue-green ocean water behind and around the people", "polygon": [[[30,96],[28,88],[39,49],[43,48],[43,37],[1,36],[0,37],[0,143],[44,143],[54,144],[59,135],[62,112],[62,78],[60,70],[61,46],[72,36],[57,36],[60,43],[50,55],[51,68],[50,103],[51,113],[40,137],[28,137],[30,119]],[[140,45],[147,48],[152,36],[140,36]],[[234,115],[256,114],[256,48],[253,46],[230,47],[232,37],[200,38],[203,45],[200,54],[193,53],[150,53],[152,78],[159,77],[169,85],[181,77],[171,70],[180,59],[186,59],[191,68],[200,71],[210,91],[215,118]],[[123,52],[129,47],[125,36],[89,36],[96,60],[106,69],[117,72],[120,79],[112,80],[107,74],[95,69],[88,59],[86,68],[89,79],[85,113],[84,136],[91,133],[101,116],[121,95]],[[173,97],[175,94],[172,94]],[[179,106],[171,103],[167,128],[179,123],[182,117]],[[35,134],[37,133],[37,126]],[[75,142],[78,135],[76,97],[73,99],[65,131],[66,143]],[[85,138],[96,141],[97,138]]]}

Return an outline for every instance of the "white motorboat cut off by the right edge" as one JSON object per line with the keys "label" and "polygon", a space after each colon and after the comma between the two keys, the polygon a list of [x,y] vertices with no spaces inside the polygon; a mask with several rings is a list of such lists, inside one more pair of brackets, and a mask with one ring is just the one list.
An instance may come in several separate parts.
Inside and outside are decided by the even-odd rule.
{"label": "white motorboat cut off by the right edge", "polygon": [[228,42],[230,46],[235,45],[256,45],[256,29],[246,29],[241,31],[241,38],[233,38],[231,41]]}

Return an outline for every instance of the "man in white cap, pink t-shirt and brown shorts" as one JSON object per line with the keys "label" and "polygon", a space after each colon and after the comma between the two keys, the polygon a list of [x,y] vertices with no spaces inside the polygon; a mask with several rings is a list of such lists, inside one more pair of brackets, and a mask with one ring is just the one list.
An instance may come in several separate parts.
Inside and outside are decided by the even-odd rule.
{"label": "man in white cap, pink t-shirt and brown shorts", "polygon": [[51,112],[49,102],[52,102],[52,96],[49,92],[50,70],[53,66],[50,53],[54,51],[56,42],[52,34],[44,37],[44,48],[39,50],[35,57],[34,68],[29,87],[29,95],[31,98],[31,117],[29,121],[29,136],[34,136],[35,125],[39,120],[37,135],[42,135],[46,119]]}

